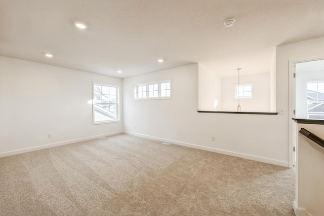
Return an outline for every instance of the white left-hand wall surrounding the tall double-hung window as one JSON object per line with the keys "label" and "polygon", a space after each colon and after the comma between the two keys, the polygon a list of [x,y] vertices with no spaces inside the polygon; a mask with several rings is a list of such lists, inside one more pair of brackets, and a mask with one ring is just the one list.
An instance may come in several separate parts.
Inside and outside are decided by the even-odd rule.
{"label": "white left-hand wall surrounding the tall double-hung window", "polygon": [[123,95],[119,78],[0,56],[0,156],[123,131],[123,97],[120,122],[92,124],[93,81]]}

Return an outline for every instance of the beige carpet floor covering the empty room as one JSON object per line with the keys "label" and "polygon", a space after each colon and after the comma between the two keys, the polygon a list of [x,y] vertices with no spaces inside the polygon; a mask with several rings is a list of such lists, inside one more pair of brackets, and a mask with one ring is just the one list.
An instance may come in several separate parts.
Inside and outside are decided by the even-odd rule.
{"label": "beige carpet floor covering the empty room", "polygon": [[0,215],[294,215],[295,170],[127,134],[0,158]]}

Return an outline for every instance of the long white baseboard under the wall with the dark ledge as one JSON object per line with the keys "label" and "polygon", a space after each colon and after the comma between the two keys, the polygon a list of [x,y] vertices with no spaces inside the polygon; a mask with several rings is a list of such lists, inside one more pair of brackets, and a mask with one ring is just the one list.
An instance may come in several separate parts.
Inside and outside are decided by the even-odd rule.
{"label": "long white baseboard under the wall with the dark ledge", "polygon": [[201,149],[201,150],[205,150],[205,151],[209,151],[209,152],[215,152],[215,153],[220,153],[220,154],[224,154],[224,155],[230,155],[230,156],[234,156],[234,157],[238,157],[238,158],[244,158],[244,159],[259,161],[259,162],[263,162],[263,163],[269,163],[269,164],[274,164],[274,165],[278,165],[278,166],[289,167],[289,162],[288,161],[279,161],[279,160],[274,160],[274,159],[271,159],[271,158],[264,158],[264,157],[248,155],[248,154],[243,154],[243,153],[238,153],[238,152],[231,152],[231,151],[227,151],[227,150],[215,149],[215,148],[211,148],[211,147],[199,146],[199,145],[195,145],[195,144],[188,143],[188,142],[181,142],[181,141],[176,141],[176,140],[171,140],[171,139],[164,139],[164,138],[160,138],[160,137],[156,137],[156,136],[149,136],[149,135],[140,134],[140,133],[134,133],[134,132],[130,132],[130,131],[124,131],[124,133],[134,135],[134,136],[143,137],[143,138],[163,141],[163,142],[170,142],[170,143],[173,143],[173,144],[176,144],[176,145],[179,145],[179,146],[186,146],[186,147],[191,147],[191,148],[195,148],[195,149]]}

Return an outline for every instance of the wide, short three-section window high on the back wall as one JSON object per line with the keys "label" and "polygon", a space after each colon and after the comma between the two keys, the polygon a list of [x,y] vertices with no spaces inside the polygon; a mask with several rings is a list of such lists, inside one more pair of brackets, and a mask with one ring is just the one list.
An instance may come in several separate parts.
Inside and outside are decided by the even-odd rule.
{"label": "wide, short three-section window high on the back wall", "polygon": [[170,80],[143,83],[134,86],[134,99],[168,99],[171,98]]}

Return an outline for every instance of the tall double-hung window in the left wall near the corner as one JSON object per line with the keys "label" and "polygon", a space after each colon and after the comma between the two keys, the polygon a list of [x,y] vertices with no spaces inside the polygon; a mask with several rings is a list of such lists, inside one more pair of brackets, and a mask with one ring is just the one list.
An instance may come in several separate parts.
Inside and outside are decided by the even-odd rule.
{"label": "tall double-hung window in the left wall near the corner", "polygon": [[119,120],[119,88],[94,84],[93,123],[109,123]]}

